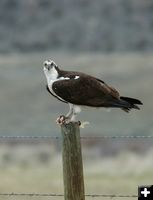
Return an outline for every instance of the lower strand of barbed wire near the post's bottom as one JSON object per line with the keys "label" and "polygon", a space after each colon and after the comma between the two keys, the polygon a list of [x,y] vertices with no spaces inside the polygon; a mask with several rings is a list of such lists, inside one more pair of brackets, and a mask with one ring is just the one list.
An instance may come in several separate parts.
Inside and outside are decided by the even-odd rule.
{"label": "lower strand of barbed wire near the post's bottom", "polygon": [[[63,194],[55,193],[0,193],[0,196],[26,196],[26,197],[64,197]],[[85,194],[86,197],[92,198],[137,198],[138,195],[122,195],[122,194]]]}

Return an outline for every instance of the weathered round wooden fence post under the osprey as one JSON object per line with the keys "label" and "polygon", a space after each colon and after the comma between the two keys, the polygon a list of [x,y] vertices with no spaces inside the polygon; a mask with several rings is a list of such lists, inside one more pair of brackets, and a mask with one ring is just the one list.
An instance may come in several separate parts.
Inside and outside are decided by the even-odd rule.
{"label": "weathered round wooden fence post under the osprey", "polygon": [[65,200],[85,200],[80,128],[76,122],[61,126]]}

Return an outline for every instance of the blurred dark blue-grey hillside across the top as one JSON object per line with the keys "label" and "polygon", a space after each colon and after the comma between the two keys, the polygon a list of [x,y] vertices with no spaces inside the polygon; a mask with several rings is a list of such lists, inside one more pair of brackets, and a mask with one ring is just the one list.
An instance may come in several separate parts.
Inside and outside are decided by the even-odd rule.
{"label": "blurred dark blue-grey hillside across the top", "polygon": [[153,50],[151,0],[1,0],[0,52]]}

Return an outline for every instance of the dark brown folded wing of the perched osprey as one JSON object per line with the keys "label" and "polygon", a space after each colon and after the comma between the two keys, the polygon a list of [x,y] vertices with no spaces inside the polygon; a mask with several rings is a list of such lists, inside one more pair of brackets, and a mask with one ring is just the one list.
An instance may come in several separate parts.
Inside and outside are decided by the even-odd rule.
{"label": "dark brown folded wing of the perched osprey", "polygon": [[115,99],[119,98],[118,92],[103,81],[85,74],[78,74],[78,76],[78,79],[74,76],[69,80],[54,82],[53,91],[67,102],[92,107],[109,107]]}

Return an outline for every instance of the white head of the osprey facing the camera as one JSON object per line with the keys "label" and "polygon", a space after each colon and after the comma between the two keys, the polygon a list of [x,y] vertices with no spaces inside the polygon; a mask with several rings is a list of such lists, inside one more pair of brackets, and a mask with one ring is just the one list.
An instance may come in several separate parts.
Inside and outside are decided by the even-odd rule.
{"label": "white head of the osprey facing the camera", "polygon": [[47,82],[49,83],[51,80],[56,80],[58,77],[58,72],[57,72],[57,65],[53,60],[46,60],[43,63],[43,70],[44,74],[47,78]]}

